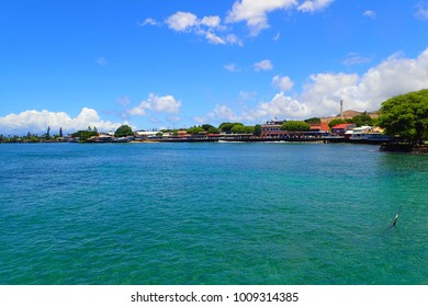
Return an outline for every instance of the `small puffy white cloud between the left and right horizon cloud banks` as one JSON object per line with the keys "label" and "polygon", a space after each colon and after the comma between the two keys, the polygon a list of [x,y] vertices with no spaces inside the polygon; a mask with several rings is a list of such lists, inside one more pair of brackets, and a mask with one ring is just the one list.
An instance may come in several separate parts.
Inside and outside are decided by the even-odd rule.
{"label": "small puffy white cloud between the left and right horizon cloud banks", "polygon": [[172,95],[158,96],[153,93],[148,99],[143,101],[138,106],[128,110],[131,115],[147,115],[147,110],[157,113],[179,113],[181,101],[176,100]]}

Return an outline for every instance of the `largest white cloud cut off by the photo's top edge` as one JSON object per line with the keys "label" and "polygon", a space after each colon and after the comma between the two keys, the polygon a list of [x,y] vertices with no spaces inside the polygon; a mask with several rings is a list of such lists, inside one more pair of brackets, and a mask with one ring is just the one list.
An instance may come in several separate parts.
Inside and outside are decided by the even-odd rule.
{"label": "largest white cloud cut off by the photo's top edge", "polygon": [[296,0],[241,0],[236,1],[228,12],[226,22],[236,23],[245,21],[250,34],[256,36],[269,27],[267,14],[275,10],[286,10],[297,5]]}

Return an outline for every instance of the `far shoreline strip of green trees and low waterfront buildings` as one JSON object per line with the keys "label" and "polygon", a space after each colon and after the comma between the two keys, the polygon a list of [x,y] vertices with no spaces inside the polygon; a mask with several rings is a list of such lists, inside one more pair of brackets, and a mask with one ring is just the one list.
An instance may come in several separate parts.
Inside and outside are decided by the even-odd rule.
{"label": "far shoreline strip of green trees and low waterfront buildings", "polygon": [[[47,127],[45,134],[35,135],[27,133],[24,136],[3,136],[0,135],[0,143],[53,143],[53,141],[129,141],[129,140],[144,140],[148,136],[151,138],[198,138],[199,140],[203,138],[218,138],[221,135],[227,137],[228,139],[235,137],[241,139],[257,139],[266,137],[266,132],[268,132],[268,137],[270,132],[274,130],[277,134],[273,134],[273,137],[281,135],[284,132],[288,136],[288,133],[291,135],[302,135],[305,136],[307,133],[311,137],[314,138],[315,134],[327,134],[328,128],[320,129],[323,124],[328,123],[329,128],[339,125],[339,124],[350,124],[352,123],[356,127],[361,126],[378,126],[383,128],[383,134],[390,139],[394,139],[394,146],[397,143],[405,143],[406,146],[415,146],[424,144],[425,139],[428,139],[428,90],[421,90],[418,92],[409,92],[403,95],[397,95],[391,98],[382,103],[380,110],[380,117],[373,117],[371,114],[363,112],[353,112],[353,117],[345,118],[342,116],[328,118],[326,122],[319,117],[311,117],[304,121],[271,121],[268,122],[268,127],[262,125],[247,126],[243,123],[237,122],[224,122],[215,127],[211,124],[195,125],[190,128],[178,128],[178,129],[162,129],[154,132],[138,130],[133,132],[132,127],[128,125],[120,126],[114,133],[99,133],[97,127],[88,127],[88,129],[82,129],[63,136],[63,128],[59,128],[58,134],[50,135],[50,127]],[[324,122],[323,122],[324,121]],[[269,125],[275,125],[273,126]],[[325,127],[326,125],[324,125]],[[314,133],[315,130],[315,133]],[[345,132],[343,132],[345,133]],[[336,136],[336,135],[335,135]],[[345,136],[341,136],[345,138]],[[349,136],[348,136],[349,137]],[[387,140],[387,138],[386,138]],[[390,145],[392,143],[390,141]],[[407,147],[408,147],[407,146]],[[412,147],[413,148],[413,147]],[[426,146],[424,146],[426,148]]]}

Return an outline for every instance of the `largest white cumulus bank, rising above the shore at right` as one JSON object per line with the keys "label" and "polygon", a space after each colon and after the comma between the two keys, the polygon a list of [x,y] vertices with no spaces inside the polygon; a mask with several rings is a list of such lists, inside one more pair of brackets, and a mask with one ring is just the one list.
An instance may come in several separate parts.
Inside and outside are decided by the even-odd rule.
{"label": "largest white cumulus bank, rising above the shore at right", "polygon": [[311,75],[302,92],[292,96],[284,91],[291,87],[286,78],[275,76],[272,83],[280,92],[271,100],[261,101],[254,109],[240,113],[217,105],[209,117],[215,118],[213,114],[222,114],[224,121],[260,123],[273,117],[303,120],[330,116],[339,113],[341,100],[346,109],[376,111],[383,101],[392,96],[428,89],[428,48],[416,58],[394,54],[361,76],[342,72]]}

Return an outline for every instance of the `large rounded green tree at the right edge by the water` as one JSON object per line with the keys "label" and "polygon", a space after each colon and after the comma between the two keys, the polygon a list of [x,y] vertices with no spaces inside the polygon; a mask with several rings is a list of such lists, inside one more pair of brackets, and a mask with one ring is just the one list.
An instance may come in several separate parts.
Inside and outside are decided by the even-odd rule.
{"label": "large rounded green tree at the right edge by the water", "polygon": [[428,134],[428,90],[409,92],[382,102],[379,126],[388,136],[421,144]]}

